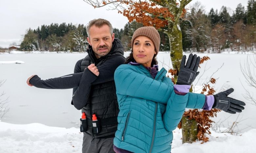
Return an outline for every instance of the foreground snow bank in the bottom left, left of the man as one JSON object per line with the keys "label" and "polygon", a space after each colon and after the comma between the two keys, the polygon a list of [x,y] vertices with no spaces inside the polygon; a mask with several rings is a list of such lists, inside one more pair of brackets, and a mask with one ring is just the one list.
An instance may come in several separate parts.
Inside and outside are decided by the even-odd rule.
{"label": "foreground snow bank in the bottom left, left of the man", "polygon": [[83,134],[78,128],[48,127],[0,122],[0,152],[81,152]]}

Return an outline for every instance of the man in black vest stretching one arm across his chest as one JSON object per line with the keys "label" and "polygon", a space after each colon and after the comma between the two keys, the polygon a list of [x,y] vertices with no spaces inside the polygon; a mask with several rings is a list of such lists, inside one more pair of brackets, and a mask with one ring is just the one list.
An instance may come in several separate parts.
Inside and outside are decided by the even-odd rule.
{"label": "man in black vest stretching one arm across his chest", "polygon": [[[86,30],[90,44],[88,55],[77,61],[74,74],[47,80],[33,75],[27,84],[47,89],[73,88],[72,104],[76,109],[82,109],[86,116],[85,123],[81,120],[84,123],[82,152],[114,152],[119,112],[114,72],[126,61],[123,46],[115,39],[113,27],[107,20],[92,20]],[[97,121],[92,121],[93,115]]]}

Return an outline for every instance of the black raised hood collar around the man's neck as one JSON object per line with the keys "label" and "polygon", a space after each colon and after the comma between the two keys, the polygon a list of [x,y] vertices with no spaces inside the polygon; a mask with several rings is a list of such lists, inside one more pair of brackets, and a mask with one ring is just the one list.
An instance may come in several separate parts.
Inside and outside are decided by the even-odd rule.
{"label": "black raised hood collar around the man's neck", "polygon": [[111,48],[110,52],[107,55],[100,57],[99,59],[96,58],[91,45],[88,46],[86,52],[88,53],[90,60],[95,62],[97,60],[105,59],[107,56],[110,56],[112,54],[124,55],[124,48],[123,48],[121,41],[119,39],[115,38],[114,41],[112,42],[112,48]]}

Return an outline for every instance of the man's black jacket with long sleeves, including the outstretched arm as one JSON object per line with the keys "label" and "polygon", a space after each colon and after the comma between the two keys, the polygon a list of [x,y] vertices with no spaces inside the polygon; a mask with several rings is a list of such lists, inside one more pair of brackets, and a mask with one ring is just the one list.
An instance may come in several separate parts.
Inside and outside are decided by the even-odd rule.
{"label": "man's black jacket with long sleeves, including the outstretched arm", "polygon": [[[123,46],[120,40],[115,39],[111,51],[104,57],[97,59],[89,46],[88,55],[75,64],[74,74],[41,80],[33,76],[30,83],[37,88],[70,89],[73,88],[72,104],[76,109],[85,112],[86,119],[92,119],[96,114],[97,119],[108,122],[101,126],[98,134],[93,134],[92,125],[88,125],[86,133],[95,138],[114,137],[117,130],[117,115],[119,112],[114,72],[125,62]],[[94,63],[99,70],[99,76],[94,75],[87,66]],[[110,123],[111,124],[110,124]]]}

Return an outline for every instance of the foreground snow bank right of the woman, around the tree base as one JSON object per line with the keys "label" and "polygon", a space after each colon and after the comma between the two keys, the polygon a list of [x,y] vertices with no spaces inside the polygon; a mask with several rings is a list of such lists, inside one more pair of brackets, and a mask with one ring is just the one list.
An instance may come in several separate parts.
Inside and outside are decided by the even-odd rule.
{"label": "foreground snow bank right of the woman, around the tree base", "polygon": [[256,152],[256,148],[254,147],[256,129],[251,129],[240,135],[218,133],[211,130],[211,135],[207,135],[209,142],[203,144],[201,144],[202,141],[196,141],[192,144],[182,144],[181,129],[176,128],[173,132],[172,153]]}

